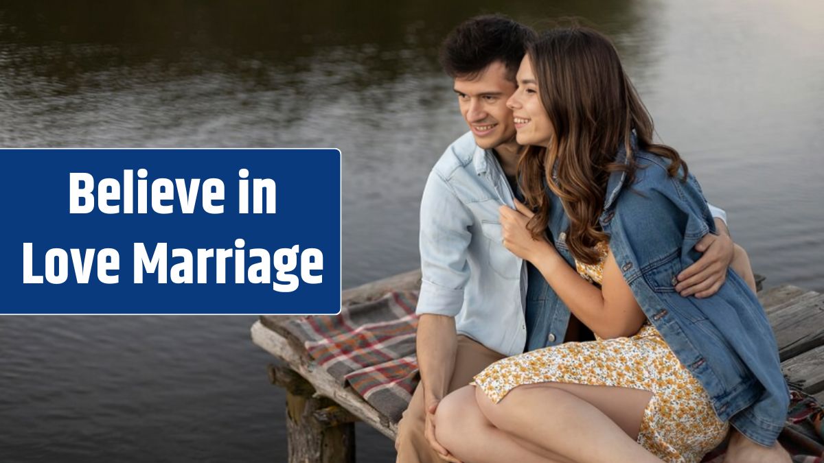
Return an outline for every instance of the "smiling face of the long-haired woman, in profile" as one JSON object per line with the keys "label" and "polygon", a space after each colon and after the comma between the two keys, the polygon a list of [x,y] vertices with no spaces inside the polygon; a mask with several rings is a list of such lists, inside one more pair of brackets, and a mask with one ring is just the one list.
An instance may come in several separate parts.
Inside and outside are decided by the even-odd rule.
{"label": "smiling face of the long-haired woman, in profile", "polygon": [[517,90],[509,97],[507,107],[513,110],[517,143],[546,147],[550,144],[555,131],[544,105],[541,104],[538,82],[535,73],[532,72],[532,63],[528,55],[521,61],[516,80]]}

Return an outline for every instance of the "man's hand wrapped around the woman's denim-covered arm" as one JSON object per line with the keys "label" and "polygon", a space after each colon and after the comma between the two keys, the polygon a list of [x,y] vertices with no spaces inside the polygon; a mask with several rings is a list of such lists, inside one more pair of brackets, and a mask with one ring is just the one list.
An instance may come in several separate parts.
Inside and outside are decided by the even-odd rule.
{"label": "man's hand wrapped around the woman's denim-covered arm", "polygon": [[[717,220],[716,223],[720,222]],[[720,227],[719,227],[720,228]],[[721,288],[727,279],[727,268],[733,261],[733,239],[726,227],[718,235],[705,235],[695,245],[695,250],[704,255],[678,274],[675,290],[683,297],[710,297]]]}

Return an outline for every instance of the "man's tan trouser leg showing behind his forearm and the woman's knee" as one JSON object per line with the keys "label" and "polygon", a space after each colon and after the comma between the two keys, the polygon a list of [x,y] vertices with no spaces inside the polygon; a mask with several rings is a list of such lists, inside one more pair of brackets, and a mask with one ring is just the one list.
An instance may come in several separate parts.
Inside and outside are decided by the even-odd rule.
{"label": "man's tan trouser leg showing behind his forearm and the woman's knee", "polygon": [[[458,348],[455,357],[455,370],[449,382],[449,391],[455,391],[472,381],[472,377],[505,356],[486,348],[466,336],[458,336]],[[398,437],[395,448],[398,451],[398,463],[441,463],[443,460],[429,446],[424,437],[424,388],[418,387],[412,395],[409,407],[398,423]]]}

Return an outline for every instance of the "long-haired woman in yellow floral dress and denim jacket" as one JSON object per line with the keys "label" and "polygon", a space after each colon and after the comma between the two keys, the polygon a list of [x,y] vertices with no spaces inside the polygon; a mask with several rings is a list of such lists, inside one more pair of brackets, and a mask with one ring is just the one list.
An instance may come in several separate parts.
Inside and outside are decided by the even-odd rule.
{"label": "long-haired woman in yellow floral dress and denim jacket", "polygon": [[529,207],[501,208],[503,244],[597,339],[486,368],[439,405],[438,442],[461,461],[700,461],[733,423],[739,461],[789,461],[775,443],[788,393],[751,288],[730,274],[713,297],[674,291],[712,219],[678,153],[652,143],[612,44],[553,30],[517,83]]}

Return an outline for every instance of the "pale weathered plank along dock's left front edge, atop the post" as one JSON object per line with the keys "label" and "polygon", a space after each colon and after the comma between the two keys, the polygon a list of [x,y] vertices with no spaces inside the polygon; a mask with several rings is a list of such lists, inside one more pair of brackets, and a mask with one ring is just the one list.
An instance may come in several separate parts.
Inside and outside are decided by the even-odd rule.
{"label": "pale weathered plank along dock's left front edge, atop the post", "polygon": [[280,358],[283,362],[287,362],[289,367],[292,367],[293,370],[306,378],[312,386],[315,386],[318,394],[334,400],[386,437],[395,439],[397,433],[396,423],[391,423],[384,415],[378,413],[351,388],[341,387],[338,381],[328,372],[318,367],[315,362],[308,360],[305,350],[295,348],[287,339],[279,333],[269,330],[260,321],[252,325],[251,335],[255,344]]}

